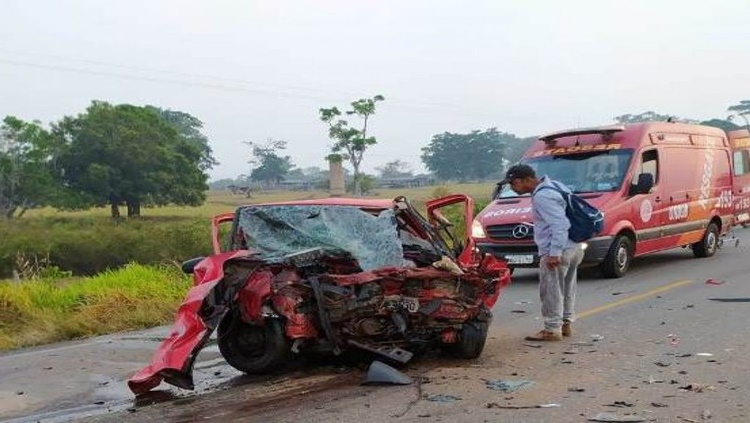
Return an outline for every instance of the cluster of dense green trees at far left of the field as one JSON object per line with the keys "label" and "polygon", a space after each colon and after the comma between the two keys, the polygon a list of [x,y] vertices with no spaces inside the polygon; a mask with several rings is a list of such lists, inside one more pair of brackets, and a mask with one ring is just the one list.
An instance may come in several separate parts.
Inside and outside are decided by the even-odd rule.
{"label": "cluster of dense green trees at far left of the field", "polygon": [[93,101],[44,127],[13,116],[0,125],[0,216],[35,207],[80,210],[196,206],[216,164],[203,123],[180,111]]}

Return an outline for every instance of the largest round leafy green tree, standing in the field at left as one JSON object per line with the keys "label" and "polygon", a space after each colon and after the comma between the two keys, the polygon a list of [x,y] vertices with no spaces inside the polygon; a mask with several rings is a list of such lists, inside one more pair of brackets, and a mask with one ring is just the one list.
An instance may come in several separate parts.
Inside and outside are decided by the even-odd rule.
{"label": "largest round leafy green tree, standing in the field at left", "polygon": [[128,216],[140,216],[144,205],[202,204],[208,189],[205,170],[214,161],[207,144],[184,130],[159,109],[100,101],[63,118],[53,127],[62,146],[61,177],[77,194],[63,206],[108,204],[112,217],[119,217],[122,204]]}

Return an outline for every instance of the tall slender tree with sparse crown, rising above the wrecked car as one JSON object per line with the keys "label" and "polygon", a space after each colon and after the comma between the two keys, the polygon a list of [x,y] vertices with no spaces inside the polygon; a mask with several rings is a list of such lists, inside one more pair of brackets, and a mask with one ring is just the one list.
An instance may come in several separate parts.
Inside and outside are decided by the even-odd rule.
{"label": "tall slender tree with sparse crown, rising above the wrecked car", "polygon": [[341,119],[341,111],[337,107],[320,109],[320,120],[328,124],[328,136],[334,141],[328,160],[348,160],[354,169],[354,195],[362,195],[360,165],[368,147],[377,144],[375,137],[367,136],[369,119],[375,114],[376,103],[385,100],[382,95],[363,98],[351,103],[351,110],[345,113],[357,116],[361,120],[361,129],[350,126],[349,122]]}

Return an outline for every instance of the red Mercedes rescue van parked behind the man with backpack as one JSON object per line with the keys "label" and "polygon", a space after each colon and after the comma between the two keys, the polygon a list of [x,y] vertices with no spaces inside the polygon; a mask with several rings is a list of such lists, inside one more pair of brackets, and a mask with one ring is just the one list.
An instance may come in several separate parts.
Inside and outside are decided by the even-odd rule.
{"label": "red Mercedes rescue van parked behind the man with backpack", "polygon": [[[584,265],[621,277],[634,257],[656,251],[690,247],[696,257],[714,255],[735,223],[733,154],[721,129],[646,122],[544,135],[521,162],[604,212],[604,230],[587,242]],[[472,235],[482,252],[511,267],[537,267],[533,230],[529,196],[500,186]]]}

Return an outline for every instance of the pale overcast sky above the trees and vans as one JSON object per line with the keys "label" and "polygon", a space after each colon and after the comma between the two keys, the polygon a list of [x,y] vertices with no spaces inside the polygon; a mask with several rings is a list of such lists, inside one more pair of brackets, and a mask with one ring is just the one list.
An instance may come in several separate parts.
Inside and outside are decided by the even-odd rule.
{"label": "pale overcast sky above the trees and vans", "polygon": [[421,170],[445,131],[725,117],[750,98],[748,22],[748,0],[3,0],[0,116],[50,122],[93,99],[186,111],[217,179],[269,137],[324,167],[318,109],[382,94],[365,170]]}

